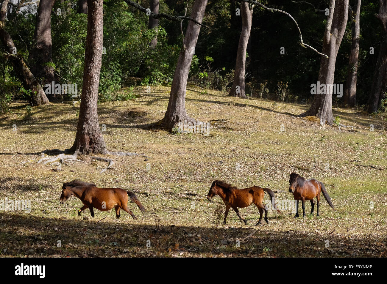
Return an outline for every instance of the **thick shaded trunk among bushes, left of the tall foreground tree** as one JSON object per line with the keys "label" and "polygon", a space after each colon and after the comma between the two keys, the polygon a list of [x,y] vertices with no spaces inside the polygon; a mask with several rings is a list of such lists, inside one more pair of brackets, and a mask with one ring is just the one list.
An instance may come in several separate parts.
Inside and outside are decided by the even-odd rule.
{"label": "thick shaded trunk among bushes, left of the tall foreground tree", "polygon": [[[31,72],[36,78],[43,79],[43,85],[55,81],[54,68],[47,64],[52,63],[51,12],[54,2],[54,0],[40,0],[39,2],[33,49],[28,57]],[[55,94],[48,95],[48,98],[54,99]]]}

